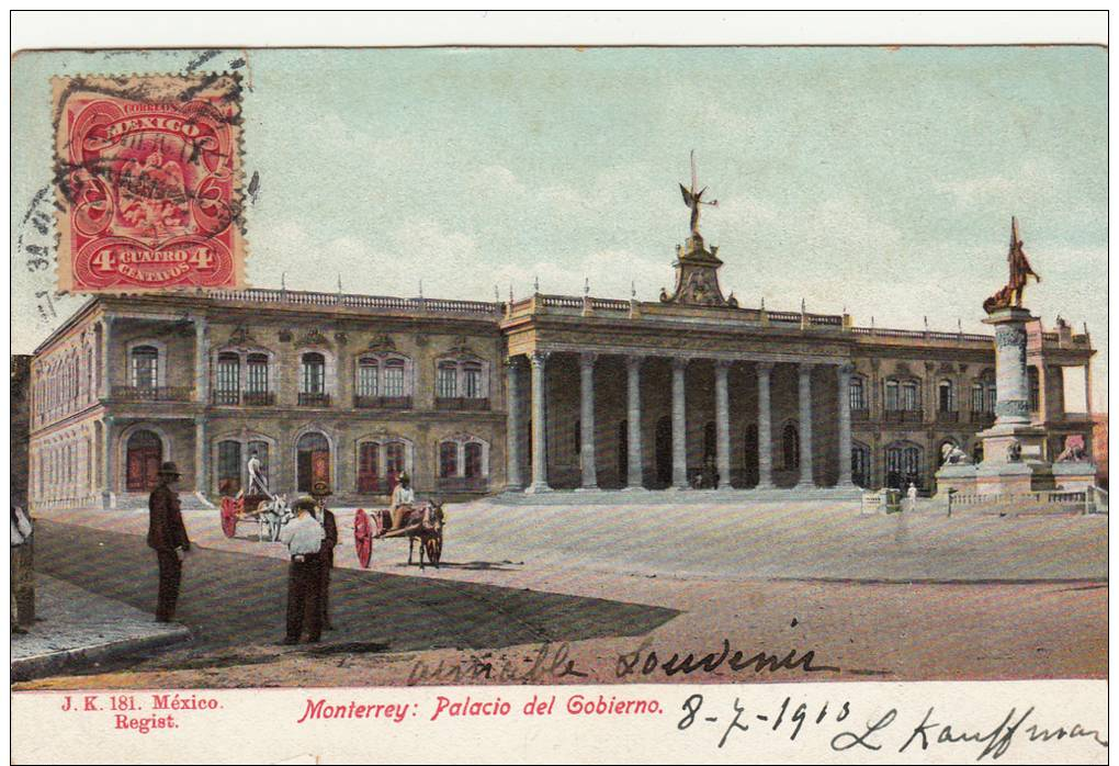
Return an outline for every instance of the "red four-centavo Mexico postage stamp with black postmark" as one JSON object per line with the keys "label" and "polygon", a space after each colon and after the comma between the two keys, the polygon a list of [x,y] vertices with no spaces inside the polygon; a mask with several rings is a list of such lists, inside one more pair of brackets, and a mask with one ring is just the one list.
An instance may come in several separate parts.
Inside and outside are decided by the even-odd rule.
{"label": "red four-centavo Mexico postage stamp with black postmark", "polygon": [[58,289],[242,287],[238,78],[53,82]]}

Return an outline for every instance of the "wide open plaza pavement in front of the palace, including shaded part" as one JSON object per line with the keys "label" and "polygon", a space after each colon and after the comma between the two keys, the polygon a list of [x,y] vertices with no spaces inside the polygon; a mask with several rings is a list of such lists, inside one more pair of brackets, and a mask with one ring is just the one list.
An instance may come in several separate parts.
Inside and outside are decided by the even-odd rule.
{"label": "wide open plaza pavement in front of the palace, including shaded part", "polygon": [[[586,675],[537,683],[1107,674],[1101,516],[950,520],[928,506],[859,516],[853,504],[821,503],[592,512],[490,501],[446,511],[441,569],[405,567],[407,543],[388,540],[374,542],[368,572],[356,571],[352,512],[336,512],[339,630],[321,647],[275,644],[283,548],[256,542],[251,525],[226,539],[216,511],[188,512],[198,551],[188,559],[180,617],[194,646],[120,672],[21,688],[393,685],[417,669],[477,666],[478,657],[526,667],[545,645],[562,646]],[[86,569],[66,555],[92,547],[106,573],[88,587],[151,608],[147,512],[51,517],[62,523],[41,531],[54,550],[37,563],[81,580]],[[702,655],[721,651],[723,639],[747,655],[811,651],[816,664],[837,670],[617,675],[629,652]]]}

